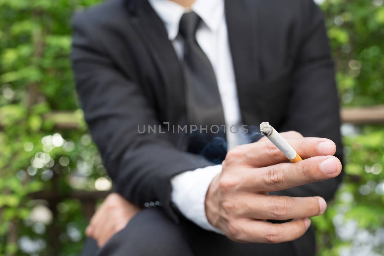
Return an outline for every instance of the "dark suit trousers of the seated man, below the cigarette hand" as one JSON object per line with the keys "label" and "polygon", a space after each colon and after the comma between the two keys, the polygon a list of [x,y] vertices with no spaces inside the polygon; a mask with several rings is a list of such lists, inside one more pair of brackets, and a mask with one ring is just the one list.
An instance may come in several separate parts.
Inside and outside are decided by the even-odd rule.
{"label": "dark suit trousers of the seated man, below the cigarette hand", "polygon": [[313,233],[308,231],[302,238],[289,243],[235,243],[223,235],[202,230],[185,219],[177,225],[160,208],[154,208],[138,213],[97,255],[311,256],[314,255],[314,240]]}

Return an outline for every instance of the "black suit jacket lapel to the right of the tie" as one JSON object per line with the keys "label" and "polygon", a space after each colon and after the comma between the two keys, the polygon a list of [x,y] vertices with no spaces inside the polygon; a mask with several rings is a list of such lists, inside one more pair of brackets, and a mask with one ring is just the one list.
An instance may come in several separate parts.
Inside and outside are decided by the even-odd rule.
{"label": "black suit jacket lapel to the right of the tie", "polygon": [[260,65],[260,1],[225,0],[228,39],[235,71],[238,99],[243,122],[258,125],[263,104],[258,93]]}

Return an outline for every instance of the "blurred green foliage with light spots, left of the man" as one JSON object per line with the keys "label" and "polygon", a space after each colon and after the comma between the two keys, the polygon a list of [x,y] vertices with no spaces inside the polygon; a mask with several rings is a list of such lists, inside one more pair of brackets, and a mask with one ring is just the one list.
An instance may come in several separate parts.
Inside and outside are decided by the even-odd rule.
{"label": "blurred green foliage with light spots, left of the man", "polygon": [[[79,110],[70,19],[96,0],[0,0],[0,255],[78,255],[87,220],[76,199],[28,194],[95,190],[106,176]],[[76,130],[56,122],[75,111]],[[16,235],[16,236],[15,236]]]}

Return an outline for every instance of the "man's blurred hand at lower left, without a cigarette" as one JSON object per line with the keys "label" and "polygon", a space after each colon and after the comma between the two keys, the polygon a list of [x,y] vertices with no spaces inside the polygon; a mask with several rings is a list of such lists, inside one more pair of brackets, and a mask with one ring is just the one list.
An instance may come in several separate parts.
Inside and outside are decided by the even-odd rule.
{"label": "man's blurred hand at lower left, without a cigarette", "polygon": [[118,193],[112,193],[93,215],[91,223],[86,228],[86,235],[95,239],[101,248],[139,211],[140,208],[136,205],[129,203]]}

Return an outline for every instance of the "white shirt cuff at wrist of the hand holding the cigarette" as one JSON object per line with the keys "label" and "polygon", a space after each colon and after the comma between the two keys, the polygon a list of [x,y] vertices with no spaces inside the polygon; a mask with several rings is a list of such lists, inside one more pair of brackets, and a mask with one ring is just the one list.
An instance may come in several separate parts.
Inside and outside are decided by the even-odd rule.
{"label": "white shirt cuff at wrist of the hand holding the cigarette", "polygon": [[222,165],[207,166],[180,173],[171,179],[171,200],[179,211],[200,228],[219,234],[223,232],[210,225],[205,216],[205,195],[210,183],[221,170]]}

